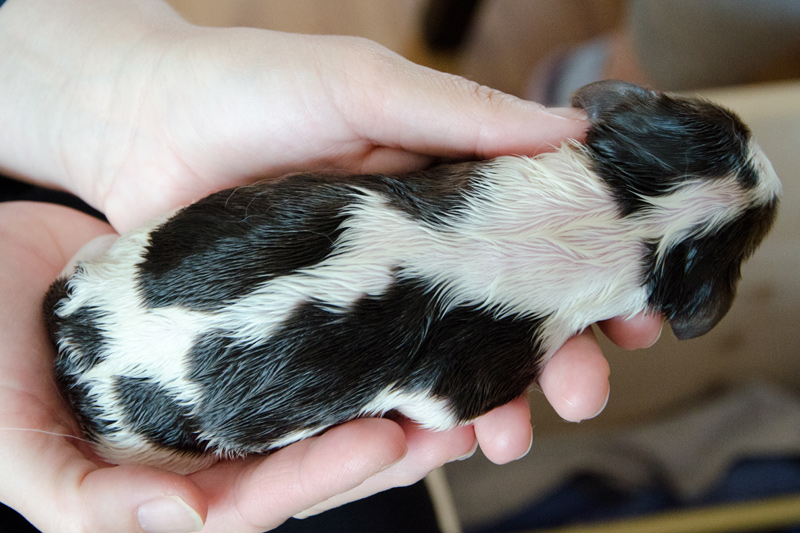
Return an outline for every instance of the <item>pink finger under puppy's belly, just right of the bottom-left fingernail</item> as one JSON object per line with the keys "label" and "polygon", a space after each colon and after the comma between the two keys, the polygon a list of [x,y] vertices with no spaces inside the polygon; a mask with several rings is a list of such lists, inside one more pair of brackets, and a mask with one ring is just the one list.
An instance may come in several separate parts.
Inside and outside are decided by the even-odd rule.
{"label": "pink finger under puppy's belly, just right of the bottom-left fingernail", "polygon": [[209,497],[203,531],[263,531],[353,489],[401,460],[403,430],[363,419],[257,461],[224,462],[194,474]]}

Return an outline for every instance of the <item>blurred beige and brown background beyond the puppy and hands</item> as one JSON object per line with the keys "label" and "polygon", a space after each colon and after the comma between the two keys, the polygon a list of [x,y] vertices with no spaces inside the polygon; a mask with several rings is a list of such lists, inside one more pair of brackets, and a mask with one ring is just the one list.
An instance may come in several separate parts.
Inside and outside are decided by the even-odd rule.
{"label": "blurred beige and brown background beyond the puppy and hands", "polygon": [[478,453],[428,487],[447,532],[800,527],[800,2],[170,2],[201,25],[367,37],[548,105],[615,77],[739,112],[785,197],[731,313],[693,341],[665,331],[635,353],[604,343],[601,416],[566,423],[533,391],[526,458],[501,467]]}

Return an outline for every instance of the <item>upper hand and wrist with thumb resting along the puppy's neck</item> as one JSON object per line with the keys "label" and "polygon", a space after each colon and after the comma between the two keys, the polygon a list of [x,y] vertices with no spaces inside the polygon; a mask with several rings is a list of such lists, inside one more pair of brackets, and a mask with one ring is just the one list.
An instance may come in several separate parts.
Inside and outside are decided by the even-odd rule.
{"label": "upper hand and wrist with thumb resting along the puppy's neck", "polygon": [[534,154],[586,128],[575,110],[559,116],[360,38],[200,28],[158,0],[3,10],[0,45],[15,54],[0,62],[14,81],[0,97],[15,106],[0,165],[71,190],[118,231],[255,179]]}

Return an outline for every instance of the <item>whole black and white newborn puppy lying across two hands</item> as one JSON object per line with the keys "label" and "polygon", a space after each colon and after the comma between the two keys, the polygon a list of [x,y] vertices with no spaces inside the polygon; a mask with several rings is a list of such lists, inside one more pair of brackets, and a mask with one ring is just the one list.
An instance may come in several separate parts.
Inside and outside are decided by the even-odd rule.
{"label": "whole black and white newborn puppy lying across two hands", "polygon": [[190,472],[389,410],[469,422],[610,317],[709,331],[775,216],[770,163],[705,101],[600,82],[573,103],[585,144],[239,187],[79,261],[45,313],[85,436]]}

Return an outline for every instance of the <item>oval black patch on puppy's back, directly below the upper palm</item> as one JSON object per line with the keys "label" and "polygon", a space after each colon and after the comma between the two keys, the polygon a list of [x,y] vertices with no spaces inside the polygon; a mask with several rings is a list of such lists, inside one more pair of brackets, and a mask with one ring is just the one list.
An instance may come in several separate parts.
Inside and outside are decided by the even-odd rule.
{"label": "oval black patch on puppy's back, directly below the upper palm", "polygon": [[293,176],[213,194],[150,235],[139,285],[150,307],[215,310],[333,250],[347,191]]}

